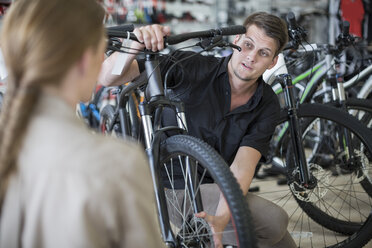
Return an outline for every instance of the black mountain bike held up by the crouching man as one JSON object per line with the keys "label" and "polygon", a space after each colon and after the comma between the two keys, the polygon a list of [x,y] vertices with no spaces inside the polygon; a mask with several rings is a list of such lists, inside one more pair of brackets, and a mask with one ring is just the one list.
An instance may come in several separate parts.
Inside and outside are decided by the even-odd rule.
{"label": "black mountain bike held up by the crouching man", "polygon": [[[208,43],[204,50],[209,50],[228,45],[222,36],[240,33],[245,33],[243,26],[212,29],[168,36],[166,44],[204,38],[201,43]],[[108,36],[136,40],[132,33],[115,30],[108,30]],[[121,41],[111,38],[108,49],[121,51],[120,48]],[[225,230],[224,235],[236,235],[239,247],[255,247],[249,209],[239,184],[213,148],[187,135],[183,103],[170,99],[164,91],[159,71],[159,57],[164,55],[146,50],[143,53],[146,74],[117,89],[117,105],[106,105],[102,109],[100,125],[101,131],[116,133],[144,146],[149,158],[164,242],[168,247],[213,247],[213,233],[208,223],[193,214],[203,210],[203,185],[214,182],[229,206],[234,226],[232,233]],[[145,97],[138,103],[136,93],[142,90]],[[162,125],[164,108],[175,110],[178,126]],[[181,204],[176,201],[179,195],[183,195]],[[172,221],[174,219],[180,221],[177,223]]]}

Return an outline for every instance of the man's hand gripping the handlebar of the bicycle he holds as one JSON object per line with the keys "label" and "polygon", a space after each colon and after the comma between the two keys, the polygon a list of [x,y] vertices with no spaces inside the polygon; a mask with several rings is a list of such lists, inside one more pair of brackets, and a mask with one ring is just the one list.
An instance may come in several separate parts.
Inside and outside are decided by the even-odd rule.
{"label": "man's hand gripping the handlebar of the bicycle he holds", "polygon": [[156,52],[164,49],[164,36],[170,34],[170,27],[154,24],[136,28],[133,33],[136,35],[137,39],[143,43],[136,42],[136,46],[138,46],[136,47],[137,49],[146,48]]}

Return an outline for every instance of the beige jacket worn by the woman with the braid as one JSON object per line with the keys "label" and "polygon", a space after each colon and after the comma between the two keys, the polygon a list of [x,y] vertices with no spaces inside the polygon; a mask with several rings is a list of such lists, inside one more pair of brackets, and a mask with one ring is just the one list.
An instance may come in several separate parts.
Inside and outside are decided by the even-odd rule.
{"label": "beige jacket worn by the woman with the braid", "polygon": [[153,192],[137,146],[92,134],[43,96],[5,198],[0,247],[164,247]]}

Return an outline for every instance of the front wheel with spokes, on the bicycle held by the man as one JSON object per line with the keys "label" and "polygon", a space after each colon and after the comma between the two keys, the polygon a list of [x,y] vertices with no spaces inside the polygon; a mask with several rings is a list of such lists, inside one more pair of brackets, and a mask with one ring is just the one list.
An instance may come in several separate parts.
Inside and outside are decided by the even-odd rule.
{"label": "front wheel with spokes, on the bicycle held by the man", "polygon": [[256,247],[247,202],[228,165],[213,148],[197,138],[175,135],[162,143],[160,156],[171,229],[180,247],[214,247],[213,230],[195,213],[214,215],[220,197],[231,214],[223,243]]}

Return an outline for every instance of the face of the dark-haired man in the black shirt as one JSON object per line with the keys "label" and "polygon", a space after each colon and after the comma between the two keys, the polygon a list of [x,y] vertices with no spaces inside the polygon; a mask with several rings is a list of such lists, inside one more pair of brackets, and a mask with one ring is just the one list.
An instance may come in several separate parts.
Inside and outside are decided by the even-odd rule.
{"label": "face of the dark-haired man in the black shirt", "polygon": [[[278,45],[273,38],[256,25],[251,25],[244,35],[236,36],[233,42],[242,48],[234,50],[229,70],[243,81],[256,80],[266,69],[272,68],[278,59],[275,53]],[[230,71],[231,72],[231,71]]]}

